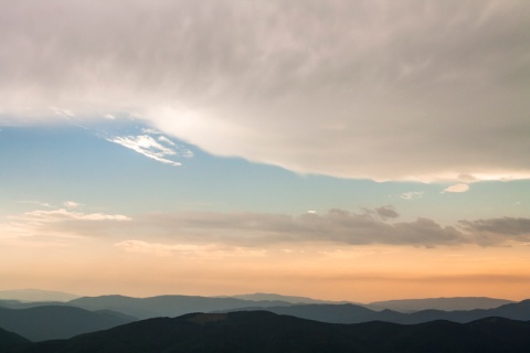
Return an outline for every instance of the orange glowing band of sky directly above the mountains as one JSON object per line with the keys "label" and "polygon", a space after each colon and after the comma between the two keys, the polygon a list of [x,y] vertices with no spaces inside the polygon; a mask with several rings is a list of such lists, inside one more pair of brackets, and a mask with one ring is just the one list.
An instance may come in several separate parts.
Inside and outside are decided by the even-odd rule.
{"label": "orange glowing band of sky directly above the mountains", "polygon": [[[275,292],[327,300],[530,297],[528,246],[269,248],[209,254],[26,252],[0,260],[0,289],[40,288],[81,296],[222,296]],[[248,253],[245,253],[248,252]],[[86,254],[91,254],[89,256]]]}

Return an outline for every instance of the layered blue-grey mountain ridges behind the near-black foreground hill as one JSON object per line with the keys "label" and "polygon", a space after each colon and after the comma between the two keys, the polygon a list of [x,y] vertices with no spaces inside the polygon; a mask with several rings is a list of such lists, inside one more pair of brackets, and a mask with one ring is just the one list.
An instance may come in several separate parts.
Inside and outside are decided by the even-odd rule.
{"label": "layered blue-grey mountain ridges behind the near-black foreground hill", "polygon": [[[109,329],[140,319],[179,317],[191,312],[232,312],[266,310],[277,314],[330,323],[384,321],[415,324],[435,320],[470,322],[488,317],[530,320],[530,300],[504,304],[494,309],[421,310],[399,312],[372,310],[353,303],[326,303],[304,297],[279,295],[247,295],[253,299],[308,300],[317,303],[293,303],[282,300],[244,300],[193,296],[159,296],[131,298],[124,296],[83,297],[68,302],[20,302],[0,300],[0,328],[32,341],[68,339],[76,334]],[[495,300],[495,299],[492,299]],[[436,302],[436,299],[428,300]],[[447,299],[442,301],[447,302]],[[322,303],[324,302],[324,303]],[[417,301],[417,302],[421,302]],[[467,300],[470,304],[470,300]]]}

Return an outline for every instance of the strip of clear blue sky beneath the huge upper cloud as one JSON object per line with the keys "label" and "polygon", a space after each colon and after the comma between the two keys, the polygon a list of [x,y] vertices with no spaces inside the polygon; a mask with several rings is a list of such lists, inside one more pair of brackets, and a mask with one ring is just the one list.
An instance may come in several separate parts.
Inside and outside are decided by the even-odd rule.
{"label": "strip of clear blue sky beneath the huge upper cloud", "polygon": [[[300,214],[330,208],[361,211],[393,205],[407,218],[436,217],[451,224],[471,217],[524,216],[528,181],[473,183],[374,182],[300,174],[237,157],[215,157],[151,127],[98,121],[92,127],[65,120],[44,126],[6,126],[0,133],[2,194],[8,210],[65,200],[115,212],[221,211]],[[148,132],[146,132],[148,131]],[[152,133],[156,132],[156,133]],[[172,165],[112,142],[113,137],[167,138]],[[33,204],[31,202],[34,202]],[[527,207],[524,207],[527,206]]]}

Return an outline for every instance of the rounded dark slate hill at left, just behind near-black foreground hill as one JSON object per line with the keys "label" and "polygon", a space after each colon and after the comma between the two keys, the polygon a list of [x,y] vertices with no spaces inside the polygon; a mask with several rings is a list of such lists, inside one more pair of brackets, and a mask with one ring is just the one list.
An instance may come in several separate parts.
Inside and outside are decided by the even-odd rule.
{"label": "rounded dark slate hill at left, just behind near-black foreground hill", "polygon": [[68,339],[136,320],[136,318],[118,312],[92,312],[62,306],[29,309],[0,308],[0,328],[18,333],[31,341]]}

